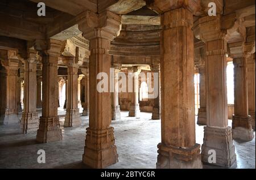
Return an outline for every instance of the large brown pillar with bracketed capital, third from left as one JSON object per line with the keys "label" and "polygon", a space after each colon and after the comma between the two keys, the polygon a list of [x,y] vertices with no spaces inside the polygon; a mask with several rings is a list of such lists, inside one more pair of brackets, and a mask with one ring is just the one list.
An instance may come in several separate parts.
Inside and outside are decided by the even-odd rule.
{"label": "large brown pillar with bracketed capital, third from left", "polygon": [[[48,143],[62,140],[59,117],[57,115],[57,62],[61,54],[61,41],[49,39],[47,43],[36,41],[43,63],[42,117],[36,140]],[[38,47],[37,47],[38,46]],[[42,50],[43,49],[43,50]]]}

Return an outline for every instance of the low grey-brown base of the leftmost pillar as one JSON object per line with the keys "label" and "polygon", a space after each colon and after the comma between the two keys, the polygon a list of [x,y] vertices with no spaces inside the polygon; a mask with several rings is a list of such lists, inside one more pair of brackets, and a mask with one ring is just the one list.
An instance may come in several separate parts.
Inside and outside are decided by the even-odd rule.
{"label": "low grey-brown base of the leftmost pillar", "polygon": [[19,125],[20,121],[16,110],[6,110],[0,115],[0,125]]}

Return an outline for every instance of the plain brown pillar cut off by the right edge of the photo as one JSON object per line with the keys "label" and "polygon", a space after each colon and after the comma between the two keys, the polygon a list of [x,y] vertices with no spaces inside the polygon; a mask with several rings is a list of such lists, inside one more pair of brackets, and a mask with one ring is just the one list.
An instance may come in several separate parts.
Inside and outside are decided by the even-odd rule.
{"label": "plain brown pillar cut off by the right edge of the photo", "polygon": [[255,53],[247,59],[248,108],[251,126],[255,130]]}

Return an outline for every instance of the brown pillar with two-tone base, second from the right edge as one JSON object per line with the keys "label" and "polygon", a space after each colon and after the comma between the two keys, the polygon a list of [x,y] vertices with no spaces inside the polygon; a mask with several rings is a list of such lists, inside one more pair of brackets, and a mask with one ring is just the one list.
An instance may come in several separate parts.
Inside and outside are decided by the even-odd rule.
{"label": "brown pillar with two-tone base, second from the right edge", "polygon": [[[253,48],[254,44],[251,45]],[[247,46],[248,47],[248,46]],[[229,44],[230,56],[234,64],[234,115],[232,117],[233,139],[253,140],[253,129],[248,109],[247,60],[250,54],[245,53],[246,42]]]}

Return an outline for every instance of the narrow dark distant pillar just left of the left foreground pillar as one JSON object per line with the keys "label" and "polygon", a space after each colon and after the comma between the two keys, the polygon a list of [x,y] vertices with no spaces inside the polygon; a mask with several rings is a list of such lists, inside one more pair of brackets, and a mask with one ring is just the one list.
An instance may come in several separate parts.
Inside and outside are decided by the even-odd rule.
{"label": "narrow dark distant pillar just left of the left foreground pillar", "polygon": [[84,74],[84,103],[82,104],[83,110],[82,115],[83,116],[89,116],[89,70],[86,68],[85,70],[82,70],[82,74]]}

